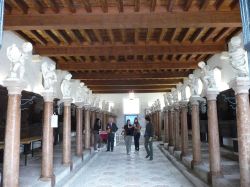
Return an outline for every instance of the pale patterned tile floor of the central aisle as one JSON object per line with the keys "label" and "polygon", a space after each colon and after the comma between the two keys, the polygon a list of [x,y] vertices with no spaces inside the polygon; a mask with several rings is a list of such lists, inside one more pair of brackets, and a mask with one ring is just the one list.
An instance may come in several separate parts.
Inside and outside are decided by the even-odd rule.
{"label": "pale patterned tile floor of the central aisle", "polygon": [[154,145],[154,160],[145,150],[127,155],[120,144],[114,152],[100,152],[77,177],[81,187],[191,187],[193,186]]}

